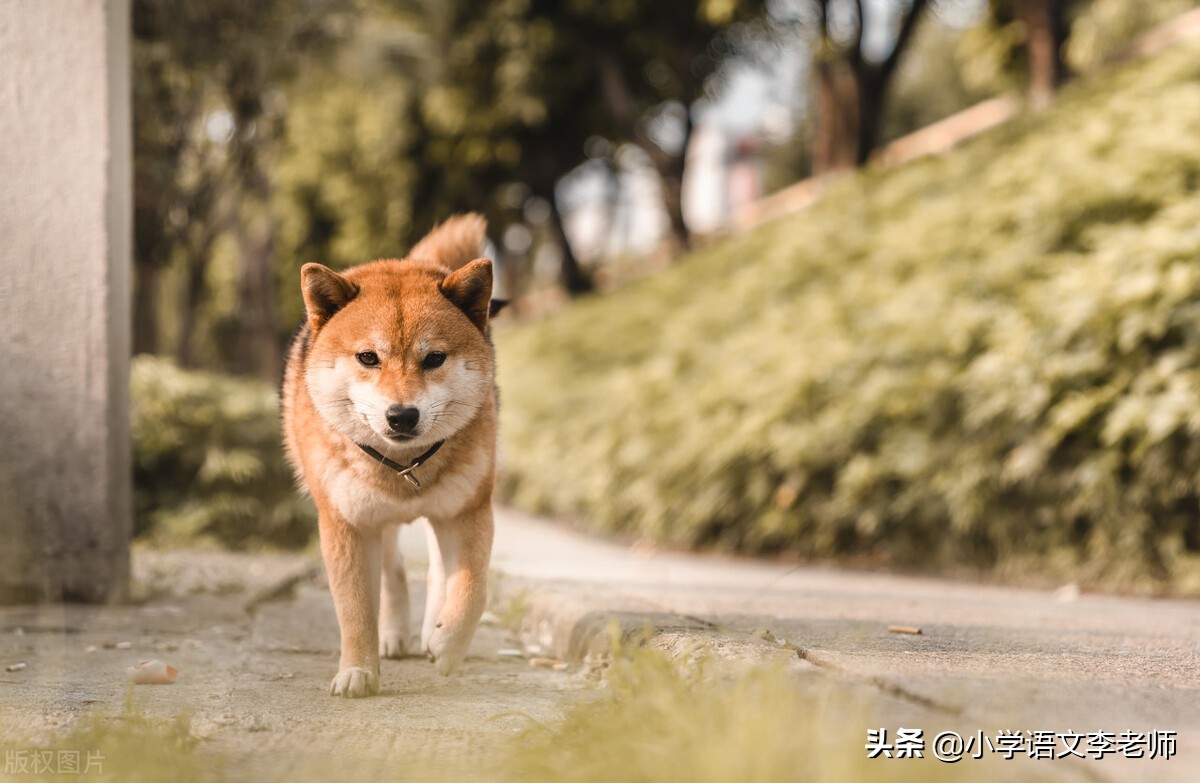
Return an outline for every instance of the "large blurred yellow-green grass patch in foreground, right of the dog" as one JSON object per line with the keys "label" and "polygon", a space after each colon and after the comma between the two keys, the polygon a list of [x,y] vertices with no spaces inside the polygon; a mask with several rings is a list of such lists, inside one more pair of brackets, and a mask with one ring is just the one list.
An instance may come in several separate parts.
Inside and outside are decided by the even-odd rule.
{"label": "large blurred yellow-green grass patch in foreground, right of the dog", "polygon": [[780,664],[734,668],[700,651],[676,662],[625,650],[606,689],[511,742],[497,779],[522,783],[994,779],[934,758],[869,760],[876,705]]}

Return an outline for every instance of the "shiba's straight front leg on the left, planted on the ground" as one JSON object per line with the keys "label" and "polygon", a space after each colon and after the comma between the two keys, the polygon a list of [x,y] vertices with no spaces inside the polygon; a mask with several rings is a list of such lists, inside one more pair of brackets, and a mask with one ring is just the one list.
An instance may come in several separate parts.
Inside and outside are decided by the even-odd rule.
{"label": "shiba's straight front leg on the left, planted on the ground", "polygon": [[335,697],[379,692],[379,532],[320,514],[320,554],[342,632],[342,658],[329,686]]}

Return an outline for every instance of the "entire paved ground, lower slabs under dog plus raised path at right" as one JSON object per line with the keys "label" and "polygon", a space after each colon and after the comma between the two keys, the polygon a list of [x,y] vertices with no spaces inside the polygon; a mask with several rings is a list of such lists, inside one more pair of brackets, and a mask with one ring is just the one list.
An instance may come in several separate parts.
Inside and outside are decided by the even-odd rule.
{"label": "entire paved ground, lower slabs under dog plus raised path at right", "polygon": [[[403,549],[419,617],[419,526],[406,528]],[[842,723],[854,724],[853,739],[842,730],[828,747],[834,757],[865,757],[871,729],[888,731],[881,751],[899,729],[919,729],[926,757],[942,733],[974,742],[970,757],[998,734],[1027,731],[1045,734],[1026,735],[1012,761],[988,751],[942,766],[971,781],[1200,779],[1196,600],[630,549],[509,510],[499,513],[493,563],[492,614],[461,675],[442,679],[418,657],[390,661],[380,698],[347,701],[326,695],[337,630],[311,556],[137,551],[140,605],[0,610],[0,665],[25,664],[0,669],[0,749],[7,763],[10,752],[54,742],[88,715],[121,715],[126,668],[161,658],[179,667],[179,681],[133,688],[132,704],[151,716],[191,716],[196,753],[216,771],[184,779],[350,771],[354,779],[494,779],[487,771],[503,765],[517,731],[553,723],[564,701],[596,695],[586,662],[616,620],[626,635],[673,653],[702,646],[743,665],[782,662],[814,698],[851,697],[860,709]],[[532,667],[532,656],[575,665]],[[1112,752],[1094,758],[1109,734]],[[1085,758],[1028,758],[1046,742],[1051,755],[1064,754],[1076,735]],[[1174,758],[1146,758],[1172,737]],[[1144,758],[1123,758],[1138,747]],[[896,765],[907,761],[881,753],[878,763],[881,779],[906,778]],[[36,776],[8,769],[5,777]]]}

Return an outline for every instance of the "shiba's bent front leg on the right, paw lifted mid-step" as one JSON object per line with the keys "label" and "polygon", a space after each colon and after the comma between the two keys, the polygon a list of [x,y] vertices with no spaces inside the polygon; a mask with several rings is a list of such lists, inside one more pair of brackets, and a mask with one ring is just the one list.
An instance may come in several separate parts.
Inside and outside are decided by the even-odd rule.
{"label": "shiba's bent front leg on the right, paw lifted mid-step", "polygon": [[445,600],[426,646],[438,674],[450,674],[462,663],[487,603],[487,561],[492,555],[488,501],[456,519],[430,520],[445,569]]}

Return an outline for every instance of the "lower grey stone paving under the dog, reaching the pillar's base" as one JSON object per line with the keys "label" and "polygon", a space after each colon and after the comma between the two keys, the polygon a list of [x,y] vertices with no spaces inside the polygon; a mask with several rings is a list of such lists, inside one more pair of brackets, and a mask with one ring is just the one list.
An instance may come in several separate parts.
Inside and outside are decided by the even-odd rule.
{"label": "lower grey stone paving under the dog, reaching the pillar's base", "polygon": [[[487,779],[516,733],[589,688],[500,655],[518,645],[490,620],[455,676],[424,656],[384,661],[378,698],[336,699],[337,622],[314,557],[134,551],[133,564],[142,605],[0,609],[0,781],[76,779],[22,764],[47,746],[90,749],[62,737],[91,715],[118,730],[130,706],[188,716],[200,742],[172,783]],[[176,667],[178,681],[131,687],[142,659]],[[90,779],[167,779],[134,755],[108,751],[106,777]]]}

